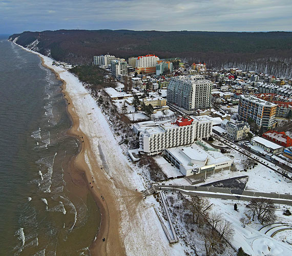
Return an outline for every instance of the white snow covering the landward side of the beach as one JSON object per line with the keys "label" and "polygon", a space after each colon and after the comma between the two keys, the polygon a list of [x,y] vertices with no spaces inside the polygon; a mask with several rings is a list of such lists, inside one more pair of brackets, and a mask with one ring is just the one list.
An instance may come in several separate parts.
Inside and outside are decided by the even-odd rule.
{"label": "white snow covering the landward side of the beach", "polygon": [[[51,58],[36,54],[43,57],[45,65],[56,71],[60,78],[66,81],[66,92],[73,101],[74,111],[79,116],[79,129],[90,140],[97,162],[107,163],[107,175],[110,178],[114,177],[118,185],[122,184],[127,189],[144,190],[141,176],[137,174],[135,166],[123,155],[95,99],[76,76],[61,66],[52,65]],[[89,161],[87,163],[89,164]],[[141,201],[133,215],[133,209],[132,212],[127,211],[126,203],[122,197],[119,197],[122,195],[121,188],[114,183],[113,186],[115,186],[114,193],[121,210],[120,232],[127,255],[184,255],[184,245],[180,242],[169,245],[151,201]]]}

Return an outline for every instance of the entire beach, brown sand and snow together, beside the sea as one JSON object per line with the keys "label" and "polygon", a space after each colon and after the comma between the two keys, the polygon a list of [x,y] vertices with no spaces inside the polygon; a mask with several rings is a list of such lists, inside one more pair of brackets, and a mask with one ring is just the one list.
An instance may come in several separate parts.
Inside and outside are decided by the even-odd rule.
{"label": "entire beach, brown sand and snow together, beside the sea", "polygon": [[153,207],[155,199],[142,198],[139,191],[145,186],[139,168],[122,152],[95,99],[76,76],[52,65],[53,59],[33,53],[62,81],[72,118],[68,134],[81,144],[72,162],[76,172],[70,177],[76,179],[75,184],[87,182],[100,209],[100,226],[90,246],[92,255],[184,255],[180,243],[169,245]]}

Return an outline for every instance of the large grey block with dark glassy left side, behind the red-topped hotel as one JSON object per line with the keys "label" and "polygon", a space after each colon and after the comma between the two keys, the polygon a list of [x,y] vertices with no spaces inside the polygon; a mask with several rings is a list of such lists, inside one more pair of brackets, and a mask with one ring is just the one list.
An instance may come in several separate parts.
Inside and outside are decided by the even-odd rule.
{"label": "large grey block with dark glassy left side, behind the red-topped hotel", "polygon": [[212,82],[200,75],[172,77],[168,102],[187,111],[207,109],[211,105]]}

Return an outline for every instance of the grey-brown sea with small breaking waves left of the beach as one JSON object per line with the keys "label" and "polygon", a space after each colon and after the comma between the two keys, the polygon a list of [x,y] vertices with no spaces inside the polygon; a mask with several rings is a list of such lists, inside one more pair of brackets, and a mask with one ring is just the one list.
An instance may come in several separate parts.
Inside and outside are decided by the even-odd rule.
{"label": "grey-brown sea with small breaking waves left of the beach", "polygon": [[80,144],[60,86],[36,54],[0,37],[0,255],[91,255],[100,213],[72,178]]}

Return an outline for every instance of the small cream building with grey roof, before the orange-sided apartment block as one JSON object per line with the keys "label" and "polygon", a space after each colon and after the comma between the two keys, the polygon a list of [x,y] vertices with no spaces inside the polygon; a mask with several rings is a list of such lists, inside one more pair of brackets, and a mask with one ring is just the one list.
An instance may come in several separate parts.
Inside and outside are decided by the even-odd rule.
{"label": "small cream building with grey roof, before the orange-sided apartment block", "polygon": [[233,123],[228,121],[225,125],[227,136],[234,141],[246,139],[250,129],[251,126],[247,122]]}

